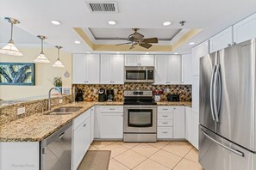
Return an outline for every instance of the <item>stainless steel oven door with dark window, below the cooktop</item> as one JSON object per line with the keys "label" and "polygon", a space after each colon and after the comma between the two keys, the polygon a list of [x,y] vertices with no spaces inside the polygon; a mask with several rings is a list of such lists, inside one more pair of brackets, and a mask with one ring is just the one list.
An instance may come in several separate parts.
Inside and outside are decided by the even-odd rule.
{"label": "stainless steel oven door with dark window, below the cooktop", "polygon": [[124,106],[124,132],[156,132],[156,106]]}

